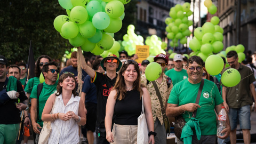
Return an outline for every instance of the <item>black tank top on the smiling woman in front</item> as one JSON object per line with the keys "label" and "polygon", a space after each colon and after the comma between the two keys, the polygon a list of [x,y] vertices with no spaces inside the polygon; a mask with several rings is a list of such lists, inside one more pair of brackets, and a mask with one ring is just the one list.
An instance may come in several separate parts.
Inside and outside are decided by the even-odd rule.
{"label": "black tank top on the smiling woman in front", "polygon": [[142,110],[142,99],[137,90],[127,91],[125,98],[121,101],[116,99],[115,104],[115,124],[138,125],[138,117]]}

